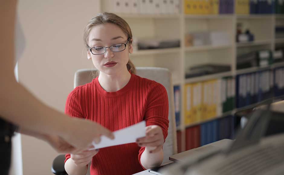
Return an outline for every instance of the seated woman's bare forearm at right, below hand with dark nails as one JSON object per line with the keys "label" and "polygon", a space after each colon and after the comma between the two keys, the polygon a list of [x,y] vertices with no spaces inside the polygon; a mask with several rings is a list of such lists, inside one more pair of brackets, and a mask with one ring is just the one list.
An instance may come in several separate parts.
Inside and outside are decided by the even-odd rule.
{"label": "seated woman's bare forearm at right, below hand with dark nails", "polygon": [[141,155],[140,161],[144,168],[149,169],[153,167],[159,167],[164,158],[164,152],[161,148],[160,151],[156,153],[150,153],[150,150],[146,147]]}

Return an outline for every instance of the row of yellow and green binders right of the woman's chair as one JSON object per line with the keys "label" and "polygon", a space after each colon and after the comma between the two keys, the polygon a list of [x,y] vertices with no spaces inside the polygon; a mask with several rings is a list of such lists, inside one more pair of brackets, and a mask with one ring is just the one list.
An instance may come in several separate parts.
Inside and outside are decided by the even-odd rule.
{"label": "row of yellow and green binders right of the woman's chair", "polygon": [[235,107],[235,79],[224,77],[185,85],[185,125],[221,116]]}

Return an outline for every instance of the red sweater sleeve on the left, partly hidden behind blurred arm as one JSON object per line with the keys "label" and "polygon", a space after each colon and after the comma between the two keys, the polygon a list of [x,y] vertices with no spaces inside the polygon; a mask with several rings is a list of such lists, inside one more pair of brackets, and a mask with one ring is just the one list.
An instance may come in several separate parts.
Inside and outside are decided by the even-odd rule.
{"label": "red sweater sleeve on the left, partly hidden behind blurred arm", "polygon": [[[84,118],[83,113],[79,104],[79,87],[75,88],[67,97],[65,104],[65,114],[70,117]],[[70,154],[65,155],[64,163],[70,158]]]}

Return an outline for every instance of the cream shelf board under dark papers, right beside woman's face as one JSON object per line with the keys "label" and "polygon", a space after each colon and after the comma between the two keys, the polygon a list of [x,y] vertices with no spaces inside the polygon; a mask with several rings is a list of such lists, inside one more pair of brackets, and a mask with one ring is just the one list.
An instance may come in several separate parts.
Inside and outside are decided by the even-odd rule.
{"label": "cream shelf board under dark papers, right beside woman's face", "polygon": [[179,52],[180,48],[167,48],[167,49],[147,49],[147,50],[136,50],[130,56],[141,56],[141,55],[152,55],[152,54],[166,54]]}

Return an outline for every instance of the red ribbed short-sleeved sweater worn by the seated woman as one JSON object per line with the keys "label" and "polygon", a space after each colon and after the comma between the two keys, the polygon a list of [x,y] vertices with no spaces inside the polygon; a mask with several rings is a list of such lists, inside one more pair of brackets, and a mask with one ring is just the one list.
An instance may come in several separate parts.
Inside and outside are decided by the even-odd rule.
{"label": "red ribbed short-sleeved sweater worn by the seated woman", "polygon": [[[98,78],[75,88],[67,97],[65,113],[92,120],[111,131],[145,120],[147,126],[160,126],[165,139],[168,134],[169,104],[166,89],[156,81],[134,74],[131,74],[126,86],[116,92],[106,92]],[[136,143],[101,148],[92,159],[90,173],[127,175],[140,172],[144,170],[140,162],[144,150],[145,147],[140,148]],[[70,154],[65,157],[69,159]]]}

